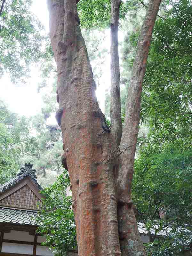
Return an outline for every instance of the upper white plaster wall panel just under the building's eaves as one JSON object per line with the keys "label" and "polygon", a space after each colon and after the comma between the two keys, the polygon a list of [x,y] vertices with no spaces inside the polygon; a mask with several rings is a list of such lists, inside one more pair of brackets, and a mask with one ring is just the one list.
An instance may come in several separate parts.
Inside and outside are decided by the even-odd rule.
{"label": "upper white plaster wall panel just under the building's eaves", "polygon": [[3,239],[34,242],[34,236],[29,235],[29,232],[11,230],[10,233],[4,233]]}

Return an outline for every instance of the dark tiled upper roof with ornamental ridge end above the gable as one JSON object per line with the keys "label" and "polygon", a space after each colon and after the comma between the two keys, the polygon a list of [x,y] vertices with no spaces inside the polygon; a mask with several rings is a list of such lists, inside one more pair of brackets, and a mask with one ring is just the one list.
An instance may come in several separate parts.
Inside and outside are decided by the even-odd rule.
{"label": "dark tiled upper roof with ornamental ridge end above the gable", "polygon": [[39,190],[42,190],[42,187],[38,184],[36,180],[37,178],[35,174],[36,170],[32,169],[32,167],[33,167],[33,164],[30,164],[30,163],[28,164],[26,163],[25,167],[21,167],[20,172],[17,174],[15,178],[13,178],[12,180],[9,180],[8,182],[0,186],[0,193],[3,193],[7,189],[14,187],[17,183],[19,183],[21,180],[23,180],[27,176],[31,178],[31,180],[36,184]]}

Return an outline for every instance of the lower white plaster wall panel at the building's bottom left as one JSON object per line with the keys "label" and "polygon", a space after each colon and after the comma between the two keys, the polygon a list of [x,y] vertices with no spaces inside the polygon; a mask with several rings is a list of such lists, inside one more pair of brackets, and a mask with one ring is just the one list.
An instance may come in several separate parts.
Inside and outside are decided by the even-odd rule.
{"label": "lower white plaster wall panel at the building's bottom left", "polygon": [[1,252],[33,254],[33,245],[3,243]]}

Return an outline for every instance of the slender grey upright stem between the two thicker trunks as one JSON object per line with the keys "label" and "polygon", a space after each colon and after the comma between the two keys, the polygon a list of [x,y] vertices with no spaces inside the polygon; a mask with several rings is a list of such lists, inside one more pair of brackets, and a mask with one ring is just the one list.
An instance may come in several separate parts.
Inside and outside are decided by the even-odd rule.
{"label": "slender grey upright stem between the two thicker trunks", "polygon": [[120,71],[118,53],[118,27],[119,27],[119,8],[121,0],[111,1],[111,134],[119,146],[122,135],[121,122],[121,96],[120,96]]}

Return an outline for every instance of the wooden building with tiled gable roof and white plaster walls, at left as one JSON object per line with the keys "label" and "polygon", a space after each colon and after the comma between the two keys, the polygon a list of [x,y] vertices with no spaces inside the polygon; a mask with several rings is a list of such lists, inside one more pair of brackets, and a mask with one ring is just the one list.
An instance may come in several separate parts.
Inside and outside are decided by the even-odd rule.
{"label": "wooden building with tiled gable roof and white plaster walls, at left", "polygon": [[45,238],[37,236],[36,215],[41,209],[42,189],[32,164],[0,186],[0,256],[51,256]]}

